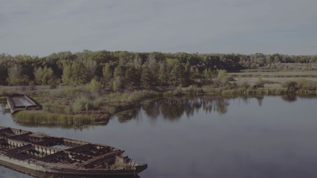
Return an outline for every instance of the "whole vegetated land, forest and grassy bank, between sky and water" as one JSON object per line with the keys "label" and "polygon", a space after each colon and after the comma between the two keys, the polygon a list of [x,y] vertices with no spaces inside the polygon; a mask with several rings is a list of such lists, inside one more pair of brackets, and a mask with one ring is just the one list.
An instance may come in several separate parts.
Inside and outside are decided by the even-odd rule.
{"label": "whole vegetated land, forest and grassy bank, between sky and water", "polygon": [[151,98],[207,94],[316,94],[317,55],[127,51],[0,54],[0,101],[24,93],[42,105],[21,123],[106,124]]}

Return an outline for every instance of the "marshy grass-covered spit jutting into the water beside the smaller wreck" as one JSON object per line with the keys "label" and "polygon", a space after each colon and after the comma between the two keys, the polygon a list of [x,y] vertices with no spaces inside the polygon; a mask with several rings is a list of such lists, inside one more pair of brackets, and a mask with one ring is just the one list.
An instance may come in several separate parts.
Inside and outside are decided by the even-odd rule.
{"label": "marshy grass-covered spit jutting into the water beside the smaller wreck", "polygon": [[[5,87],[19,92],[18,87]],[[14,92],[14,93],[15,93]],[[141,101],[161,96],[161,92],[138,90],[131,92],[96,93],[86,86],[24,91],[42,105],[39,111],[20,111],[14,114],[18,123],[45,125],[106,124],[111,116],[124,110],[139,108]],[[4,97],[4,96],[3,96]]]}

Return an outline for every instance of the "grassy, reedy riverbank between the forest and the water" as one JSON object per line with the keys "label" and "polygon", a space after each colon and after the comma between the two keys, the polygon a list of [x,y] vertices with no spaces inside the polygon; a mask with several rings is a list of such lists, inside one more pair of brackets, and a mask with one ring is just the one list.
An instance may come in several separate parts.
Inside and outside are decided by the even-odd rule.
{"label": "grassy, reedy riverbank between the forest and the water", "polygon": [[[277,80],[276,80],[277,79]],[[42,105],[39,111],[20,111],[14,114],[19,123],[81,126],[108,123],[111,116],[123,111],[140,108],[142,102],[151,98],[184,95],[282,95],[317,94],[317,82],[306,78],[279,82],[280,78],[257,78],[252,82],[235,77],[218,85],[187,88],[153,87],[122,92],[91,91],[87,86],[2,87],[1,98],[13,93],[31,96]],[[125,115],[125,114],[123,114]]]}

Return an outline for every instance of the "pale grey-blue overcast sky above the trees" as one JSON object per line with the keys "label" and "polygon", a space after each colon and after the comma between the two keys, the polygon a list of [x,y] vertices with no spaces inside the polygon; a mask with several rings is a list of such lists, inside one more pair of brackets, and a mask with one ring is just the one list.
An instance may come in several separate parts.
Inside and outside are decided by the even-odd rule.
{"label": "pale grey-blue overcast sky above the trees", "polygon": [[0,53],[317,54],[317,0],[0,0]]}

